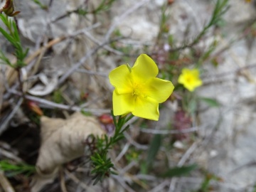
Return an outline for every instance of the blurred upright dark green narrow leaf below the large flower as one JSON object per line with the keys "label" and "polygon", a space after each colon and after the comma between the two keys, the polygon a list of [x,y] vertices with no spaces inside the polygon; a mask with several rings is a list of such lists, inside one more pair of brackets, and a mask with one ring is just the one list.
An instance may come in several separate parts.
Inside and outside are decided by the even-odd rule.
{"label": "blurred upright dark green narrow leaf below the large flower", "polygon": [[149,166],[153,163],[156,158],[161,146],[161,134],[155,134],[149,145],[149,153],[146,157],[146,164]]}

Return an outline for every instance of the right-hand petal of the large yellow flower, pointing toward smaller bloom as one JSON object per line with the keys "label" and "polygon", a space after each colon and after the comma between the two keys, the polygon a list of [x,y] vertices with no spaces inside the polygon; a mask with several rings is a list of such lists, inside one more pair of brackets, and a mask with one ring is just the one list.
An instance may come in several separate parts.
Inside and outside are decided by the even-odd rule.
{"label": "right-hand petal of the large yellow flower, pointing toward smaller bloom", "polygon": [[144,94],[156,102],[165,102],[174,91],[174,85],[169,80],[151,78],[145,84]]}

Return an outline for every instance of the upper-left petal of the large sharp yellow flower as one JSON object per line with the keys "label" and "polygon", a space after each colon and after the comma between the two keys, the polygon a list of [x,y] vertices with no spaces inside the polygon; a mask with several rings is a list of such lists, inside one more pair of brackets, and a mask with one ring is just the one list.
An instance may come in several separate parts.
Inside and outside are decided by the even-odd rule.
{"label": "upper-left petal of the large sharp yellow flower", "polygon": [[132,92],[130,74],[127,65],[120,65],[110,72],[110,83],[116,88],[119,94]]}

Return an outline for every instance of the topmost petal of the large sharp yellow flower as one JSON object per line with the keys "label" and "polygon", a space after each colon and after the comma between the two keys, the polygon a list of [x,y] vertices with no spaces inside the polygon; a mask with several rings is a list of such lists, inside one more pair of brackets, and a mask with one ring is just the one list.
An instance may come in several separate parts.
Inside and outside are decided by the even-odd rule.
{"label": "topmost petal of the large sharp yellow flower", "polygon": [[149,78],[155,78],[159,70],[148,55],[139,55],[134,66],[132,67],[132,77],[135,82],[145,82]]}

